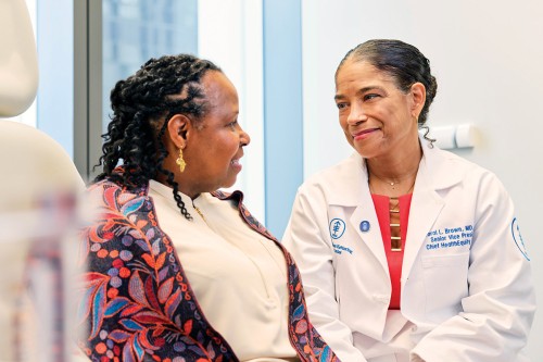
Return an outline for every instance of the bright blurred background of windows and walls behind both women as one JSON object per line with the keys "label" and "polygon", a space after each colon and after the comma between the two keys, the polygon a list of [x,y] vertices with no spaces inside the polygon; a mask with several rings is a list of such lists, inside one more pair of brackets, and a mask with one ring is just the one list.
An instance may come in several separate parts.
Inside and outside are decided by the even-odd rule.
{"label": "bright blurred background of windows and walls behind both women", "polygon": [[[3,0],[7,1],[7,0]],[[8,0],[9,1],[9,0]],[[238,88],[252,142],[233,188],[280,237],[298,186],[352,150],[333,102],[348,50],[397,38],[431,61],[439,90],[430,128],[469,124],[472,147],[451,151],[493,171],[510,192],[543,300],[538,244],[543,194],[543,2],[538,0],[26,0],[39,88],[10,118],[56,140],[84,180],[97,171],[109,92],[151,57],[189,52]],[[3,36],[3,35],[0,35]],[[1,82],[1,79],[0,79]],[[2,145],[0,145],[0,148]],[[2,152],[5,151],[2,148]],[[543,316],[528,346],[543,361]]]}

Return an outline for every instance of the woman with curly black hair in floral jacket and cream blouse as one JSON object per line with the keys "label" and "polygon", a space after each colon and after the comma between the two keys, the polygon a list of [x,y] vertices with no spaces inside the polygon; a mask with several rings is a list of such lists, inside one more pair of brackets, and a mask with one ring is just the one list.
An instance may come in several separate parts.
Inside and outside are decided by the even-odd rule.
{"label": "woman with curly black hair in floral jacket and cream blouse", "polygon": [[[80,347],[93,361],[337,361],[298,269],[235,184],[249,135],[212,62],[151,59],[111,93],[98,217],[84,230]],[[182,265],[182,266],[181,266]]]}

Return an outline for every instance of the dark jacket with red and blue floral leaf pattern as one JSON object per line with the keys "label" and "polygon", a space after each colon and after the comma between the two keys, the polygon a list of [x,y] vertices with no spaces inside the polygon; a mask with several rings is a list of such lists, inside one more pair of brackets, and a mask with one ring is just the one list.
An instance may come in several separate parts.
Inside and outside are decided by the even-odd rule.
{"label": "dark jacket with red and blue floral leaf pattern", "polygon": [[[99,217],[83,230],[84,288],[78,320],[79,347],[92,361],[239,361],[206,321],[176,250],[156,224],[147,187],[128,191],[102,180],[89,188]],[[277,240],[233,199],[256,232]],[[300,273],[290,254],[289,337],[301,361],[339,361],[307,317]]]}

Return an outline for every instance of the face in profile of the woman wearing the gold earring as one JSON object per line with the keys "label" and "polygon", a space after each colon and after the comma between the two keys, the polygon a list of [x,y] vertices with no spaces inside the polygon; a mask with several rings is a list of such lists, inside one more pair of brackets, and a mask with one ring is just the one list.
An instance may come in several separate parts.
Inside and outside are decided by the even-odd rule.
{"label": "face in profile of the woman wearing the gold earring", "polygon": [[[232,186],[241,171],[242,147],[250,142],[238,124],[238,93],[230,80],[222,72],[210,71],[201,87],[205,115],[198,121],[174,116],[168,128],[179,135],[177,147],[182,149],[187,166],[182,173],[176,170],[176,179],[180,191],[190,197]],[[177,157],[178,150],[172,154]]]}

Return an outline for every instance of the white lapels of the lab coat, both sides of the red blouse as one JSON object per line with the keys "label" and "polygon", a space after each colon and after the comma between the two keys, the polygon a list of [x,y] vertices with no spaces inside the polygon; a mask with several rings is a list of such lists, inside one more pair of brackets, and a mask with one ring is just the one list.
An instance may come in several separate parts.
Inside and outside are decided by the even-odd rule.
{"label": "white lapels of the lab coat, both sides of the red blouse", "polygon": [[[407,228],[407,240],[409,242],[407,242],[404,253],[403,277],[409,275],[418,250],[425,241],[426,234],[443,209],[445,201],[439,191],[462,182],[463,174],[466,172],[466,167],[457,166],[458,162],[462,162],[457,155],[440,150],[435,146],[430,147],[430,142],[424,138],[420,138],[420,145],[422,147],[422,159],[420,160],[409,211],[409,225]],[[332,191],[329,192],[329,203],[355,208],[350,222],[356,229],[358,229],[357,225],[361,221],[367,221],[370,225],[378,225],[367,184],[368,173],[365,160],[357,152],[354,152],[330,171],[326,173]],[[388,273],[387,257],[382,248],[380,229],[377,227],[369,229],[364,235],[358,234]]]}

